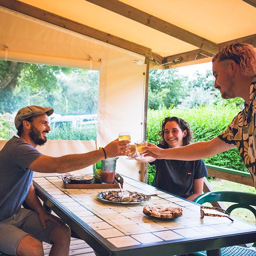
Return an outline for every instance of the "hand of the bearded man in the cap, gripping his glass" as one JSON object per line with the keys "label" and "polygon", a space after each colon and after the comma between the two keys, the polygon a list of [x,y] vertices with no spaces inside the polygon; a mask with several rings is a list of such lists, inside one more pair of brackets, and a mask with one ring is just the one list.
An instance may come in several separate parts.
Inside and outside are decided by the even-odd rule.
{"label": "hand of the bearded man in the cap, gripping his glass", "polygon": [[129,152],[129,143],[130,140],[114,140],[108,145],[105,146],[106,155],[108,158],[117,157],[117,156],[125,156]]}

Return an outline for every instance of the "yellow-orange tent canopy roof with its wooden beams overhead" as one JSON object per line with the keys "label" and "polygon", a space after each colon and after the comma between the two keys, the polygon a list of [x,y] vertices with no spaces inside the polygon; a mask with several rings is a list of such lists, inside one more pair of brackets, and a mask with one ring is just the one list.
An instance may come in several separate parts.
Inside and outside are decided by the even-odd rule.
{"label": "yellow-orange tent canopy roof with its wooden beams overhead", "polygon": [[252,0],[1,0],[0,6],[149,57],[155,68],[207,62],[227,42],[256,47]]}

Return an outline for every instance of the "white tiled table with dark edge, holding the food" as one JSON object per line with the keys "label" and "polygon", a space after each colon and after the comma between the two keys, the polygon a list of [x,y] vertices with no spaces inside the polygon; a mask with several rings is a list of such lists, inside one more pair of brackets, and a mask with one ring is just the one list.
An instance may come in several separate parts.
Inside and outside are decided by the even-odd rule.
{"label": "white tiled table with dark edge, holding the food", "polygon": [[[220,255],[220,247],[256,240],[254,225],[237,219],[232,223],[224,217],[201,219],[198,204],[128,177],[124,181],[125,190],[158,196],[140,204],[121,205],[99,201],[96,196],[102,189],[65,189],[61,177],[34,178],[34,186],[47,206],[104,256],[170,256],[198,250]],[[147,204],[181,206],[183,216],[172,221],[154,220],[142,212]]]}

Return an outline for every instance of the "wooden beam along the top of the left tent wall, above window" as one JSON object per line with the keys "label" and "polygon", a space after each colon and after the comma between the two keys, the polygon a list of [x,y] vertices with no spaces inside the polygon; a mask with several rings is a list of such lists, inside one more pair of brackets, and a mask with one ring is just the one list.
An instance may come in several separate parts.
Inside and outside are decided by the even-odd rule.
{"label": "wooden beam along the top of the left tent wall, above window", "polygon": [[151,58],[151,49],[148,47],[144,47],[140,44],[135,44],[128,40],[119,38],[106,32],[102,32],[98,29],[94,29],[73,20],[69,20],[65,17],[55,15],[51,12],[47,12],[45,10],[20,2],[18,0],[0,0],[0,6]]}

